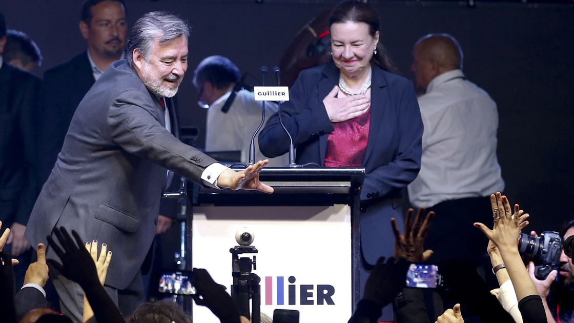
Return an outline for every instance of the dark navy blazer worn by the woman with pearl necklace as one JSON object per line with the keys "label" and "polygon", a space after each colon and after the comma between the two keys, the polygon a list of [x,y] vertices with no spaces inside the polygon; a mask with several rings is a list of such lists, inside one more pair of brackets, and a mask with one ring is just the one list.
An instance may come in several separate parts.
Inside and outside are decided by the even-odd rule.
{"label": "dark navy blazer worn by the woman with pearl necklace", "polygon": [[[299,164],[324,166],[328,134],[333,126],[323,99],[339,82],[333,63],[302,71],[282,119],[293,137]],[[400,191],[416,178],[421,164],[422,120],[410,80],[373,66],[371,124],[363,159],[366,177],[360,193],[360,236],[363,256],[374,264],[393,253],[394,236],[389,220],[402,224]],[[272,116],[259,134],[259,147],[267,157],[288,151],[289,138]]]}

